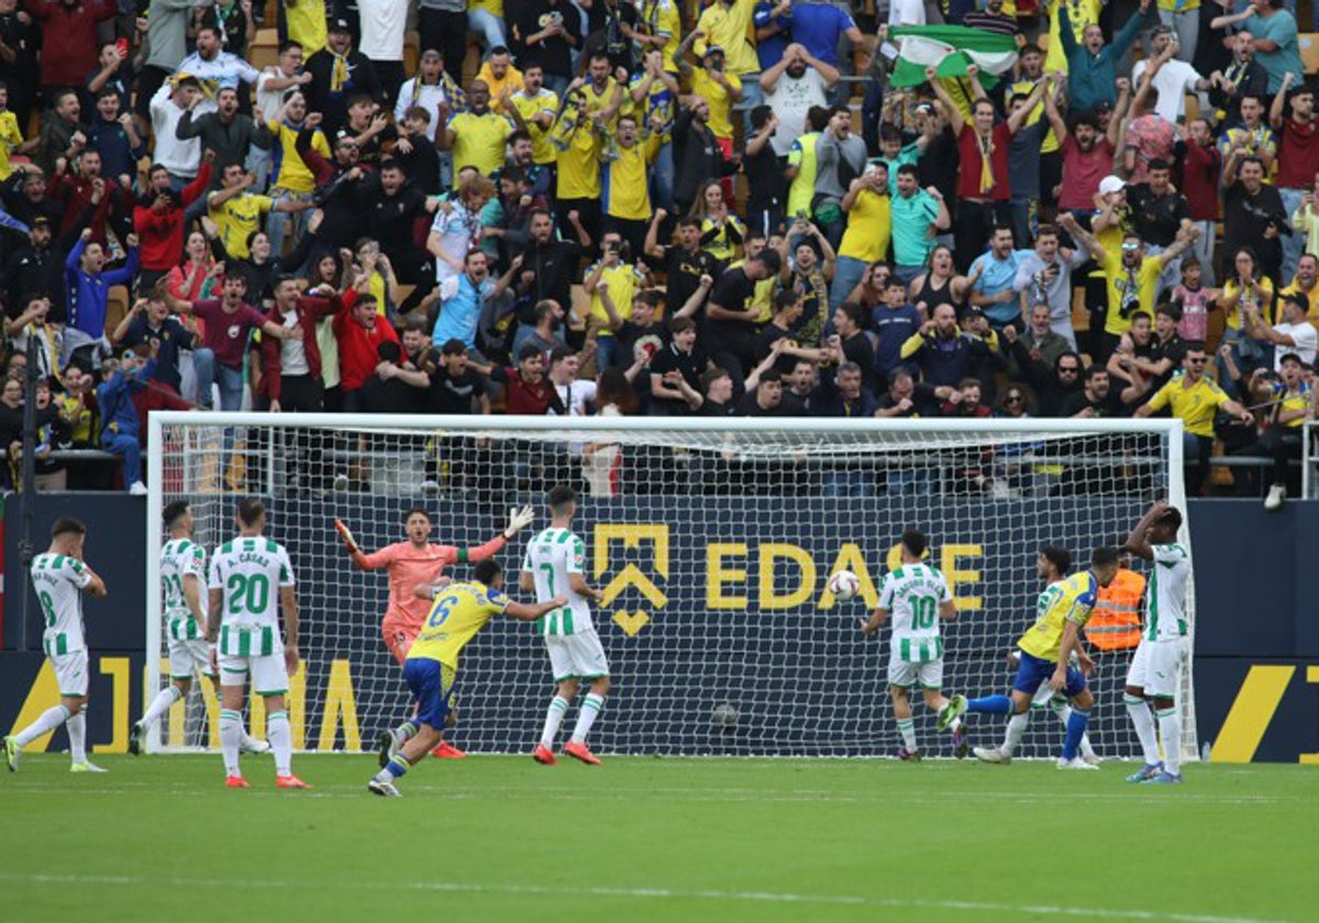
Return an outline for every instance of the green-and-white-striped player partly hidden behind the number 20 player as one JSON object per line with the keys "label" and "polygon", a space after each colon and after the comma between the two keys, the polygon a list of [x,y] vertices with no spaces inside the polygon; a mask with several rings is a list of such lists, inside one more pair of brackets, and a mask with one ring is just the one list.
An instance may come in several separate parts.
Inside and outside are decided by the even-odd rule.
{"label": "green-and-white-striped player partly hidden behind the number 20 player", "polygon": [[[128,732],[128,752],[142,752],[146,732],[179,699],[193,688],[193,675],[204,674],[218,684],[211,670],[210,645],[206,643],[206,612],[202,609],[202,587],[206,581],[206,549],[193,541],[197,518],[185,500],[165,508],[161,517],[169,541],[161,549],[161,595],[165,608],[165,638],[169,642],[170,684],[156,694],[142,717]],[[243,753],[268,753],[270,745],[248,737],[243,729]]]}

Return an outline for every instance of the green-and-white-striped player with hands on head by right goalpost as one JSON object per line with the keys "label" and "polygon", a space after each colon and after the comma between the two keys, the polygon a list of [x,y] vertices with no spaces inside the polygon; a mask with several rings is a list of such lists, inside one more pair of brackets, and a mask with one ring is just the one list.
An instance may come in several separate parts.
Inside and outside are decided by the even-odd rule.
{"label": "green-and-white-striped player with hands on head by right goalpost", "polygon": [[[1186,591],[1191,578],[1191,552],[1178,545],[1182,513],[1162,500],[1149,508],[1132,529],[1126,547],[1150,562],[1145,587],[1145,628],[1141,643],[1126,672],[1122,701],[1136,725],[1145,765],[1128,777],[1128,782],[1175,785],[1182,781],[1182,712],[1177,694],[1182,686],[1186,646]],[[1154,700],[1150,716],[1146,699]],[[1154,719],[1163,738],[1163,759],[1158,758]]]}

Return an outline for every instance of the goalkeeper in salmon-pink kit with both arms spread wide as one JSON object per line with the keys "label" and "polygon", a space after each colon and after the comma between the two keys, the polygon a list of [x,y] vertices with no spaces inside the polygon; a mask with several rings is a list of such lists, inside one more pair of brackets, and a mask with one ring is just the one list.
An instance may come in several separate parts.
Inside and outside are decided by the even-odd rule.
{"label": "goalkeeper in salmon-pink kit with both arms spread wide", "polygon": [[[353,564],[364,571],[380,568],[389,571],[389,604],[385,609],[385,617],[380,622],[380,632],[384,636],[385,647],[398,661],[400,667],[408,659],[408,651],[417,640],[430,609],[429,600],[413,595],[417,585],[435,583],[450,564],[475,563],[493,556],[534,517],[530,506],[514,509],[509,513],[508,529],[503,534],[475,549],[459,549],[452,545],[433,543],[430,541],[430,514],[419,506],[414,506],[404,514],[404,529],[408,533],[408,539],[386,545],[373,554],[363,554],[348,526],[335,520],[335,529],[339,530],[340,538],[348,547],[348,555]],[[381,740],[381,746],[385,748],[390,742]],[[435,748],[435,756],[460,758],[466,754],[452,744],[443,741]]]}

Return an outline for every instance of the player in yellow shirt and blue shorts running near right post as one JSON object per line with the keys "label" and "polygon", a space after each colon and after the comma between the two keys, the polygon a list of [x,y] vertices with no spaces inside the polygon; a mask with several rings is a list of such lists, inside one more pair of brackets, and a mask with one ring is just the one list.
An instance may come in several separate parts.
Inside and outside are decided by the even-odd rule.
{"label": "player in yellow shirt and blue shorts running near right post", "polygon": [[[1035,624],[1017,640],[1021,665],[1017,667],[1017,679],[1012,683],[1012,695],[988,695],[969,700],[955,695],[947,711],[939,715],[939,729],[967,712],[1022,715],[1030,708],[1039,684],[1047,679],[1054,691],[1063,692],[1072,705],[1058,767],[1097,769],[1078,756],[1080,738],[1089,723],[1089,709],[1095,704],[1095,696],[1086,687],[1086,676],[1095,671],[1095,662],[1082,647],[1080,629],[1089,621],[1099,588],[1107,587],[1117,576],[1119,556],[1117,549],[1095,549],[1089,555],[1089,570],[1045,587],[1035,604]],[[1072,651],[1076,653],[1080,667],[1071,666]]]}

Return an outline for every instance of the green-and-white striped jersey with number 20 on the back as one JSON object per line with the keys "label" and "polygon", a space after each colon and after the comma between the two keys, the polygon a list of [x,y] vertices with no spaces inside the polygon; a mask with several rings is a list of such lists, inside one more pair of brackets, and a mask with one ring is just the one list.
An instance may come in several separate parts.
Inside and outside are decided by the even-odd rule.
{"label": "green-and-white striped jersey with number 20 on the back", "polygon": [[280,588],[291,585],[293,564],[278,542],[240,537],[216,549],[208,587],[220,593],[220,654],[280,653]]}

